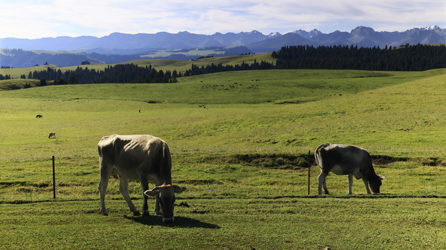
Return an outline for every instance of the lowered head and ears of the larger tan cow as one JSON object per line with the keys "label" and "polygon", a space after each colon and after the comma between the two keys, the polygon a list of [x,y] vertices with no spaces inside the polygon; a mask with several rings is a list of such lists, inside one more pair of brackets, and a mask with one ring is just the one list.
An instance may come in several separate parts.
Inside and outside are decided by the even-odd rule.
{"label": "lowered head and ears of the larger tan cow", "polygon": [[163,184],[152,190],[147,190],[144,194],[159,199],[162,211],[162,222],[171,223],[174,222],[175,193],[180,193],[184,190],[186,190],[186,187]]}

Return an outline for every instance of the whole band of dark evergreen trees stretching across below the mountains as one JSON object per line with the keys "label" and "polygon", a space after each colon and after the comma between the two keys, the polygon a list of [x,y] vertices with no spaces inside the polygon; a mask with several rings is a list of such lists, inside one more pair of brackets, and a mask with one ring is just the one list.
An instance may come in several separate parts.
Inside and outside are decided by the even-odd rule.
{"label": "whole band of dark evergreen trees stretching across below the mountains", "polygon": [[[362,69],[380,71],[424,71],[446,68],[446,46],[443,45],[404,45],[401,47],[364,48],[349,46],[299,45],[282,47],[272,52],[277,58],[275,64],[241,63],[240,65],[211,64],[201,66],[192,64],[184,73],[156,70],[151,65],[139,67],[134,64],[108,66],[104,70],[77,67],[73,71],[47,69],[29,72],[28,78],[54,81],[54,85],[86,83],[176,83],[177,78],[210,74],[216,72],[256,70],[256,69]],[[7,79],[10,76],[1,76]],[[21,78],[26,78],[22,75]],[[44,82],[41,82],[44,84]]]}

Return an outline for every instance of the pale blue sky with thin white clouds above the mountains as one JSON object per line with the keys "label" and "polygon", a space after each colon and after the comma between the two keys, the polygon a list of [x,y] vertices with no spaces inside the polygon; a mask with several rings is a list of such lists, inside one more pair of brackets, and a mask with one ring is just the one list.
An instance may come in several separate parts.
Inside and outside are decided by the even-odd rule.
{"label": "pale blue sky with thin white clouds above the mountains", "polygon": [[0,38],[446,28],[445,0],[0,0]]}

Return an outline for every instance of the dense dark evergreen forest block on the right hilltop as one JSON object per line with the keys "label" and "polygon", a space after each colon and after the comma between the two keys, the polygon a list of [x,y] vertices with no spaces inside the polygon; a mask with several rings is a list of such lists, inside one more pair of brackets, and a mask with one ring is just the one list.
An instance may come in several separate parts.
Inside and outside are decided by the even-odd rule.
{"label": "dense dark evergreen forest block on the right hilltop", "polygon": [[282,47],[272,52],[272,57],[277,58],[277,69],[424,71],[446,68],[445,44],[406,44],[384,49],[300,45]]}

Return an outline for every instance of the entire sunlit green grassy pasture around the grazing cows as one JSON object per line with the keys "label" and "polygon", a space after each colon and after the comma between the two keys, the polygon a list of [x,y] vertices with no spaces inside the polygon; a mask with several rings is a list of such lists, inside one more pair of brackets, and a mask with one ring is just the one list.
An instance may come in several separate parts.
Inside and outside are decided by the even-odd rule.
{"label": "entire sunlit green grassy pasture around the grazing cows", "polygon": [[[0,92],[0,248],[442,249],[445,73],[224,72]],[[174,183],[188,187],[176,204],[190,205],[176,224],[133,217],[114,180],[100,215],[96,144],[112,133],[167,141]],[[330,175],[332,195],[315,197],[313,166],[308,197],[302,166],[324,142],[367,149],[383,194],[355,180],[347,197],[346,176]],[[140,207],[139,183],[130,190]]]}

